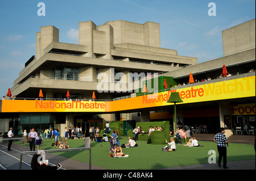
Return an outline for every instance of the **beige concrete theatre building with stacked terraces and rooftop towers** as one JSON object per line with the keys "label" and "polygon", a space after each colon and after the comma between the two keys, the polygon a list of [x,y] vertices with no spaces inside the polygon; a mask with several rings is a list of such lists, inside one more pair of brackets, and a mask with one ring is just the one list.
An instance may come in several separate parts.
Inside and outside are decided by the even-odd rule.
{"label": "beige concrete theatre building with stacked terraces and rooftop towers", "polygon": [[[158,23],[138,24],[117,20],[96,26],[91,21],[80,22],[79,44],[59,42],[59,30],[54,26],[45,26],[36,33],[36,56],[32,56],[26,62],[25,68],[14,81],[11,92],[17,99],[34,100],[38,98],[39,90],[42,89],[44,100],[63,100],[69,91],[72,100],[89,100],[92,99],[94,91],[98,101],[108,101],[136,96],[135,90],[143,86],[144,79],[139,76],[140,73],[161,73],[159,77],[172,77],[176,80],[172,86],[177,86],[177,83],[188,81],[189,73],[198,79],[217,79],[222,65],[226,65],[232,74],[239,72],[241,75],[250,69],[255,70],[255,19],[224,30],[222,40],[223,57],[197,64],[195,57],[181,56],[177,54],[177,50],[160,47]],[[131,82],[133,86],[129,86]],[[106,86],[100,87],[101,92],[98,92],[99,83],[106,83]],[[119,85],[122,85],[121,92],[115,90],[116,87],[120,87]],[[214,118],[204,118],[205,123],[214,123],[215,132],[216,128],[224,125],[224,115],[229,115],[232,120],[229,109],[232,104],[254,101],[255,96],[250,96],[228,101],[184,104],[178,109],[178,117],[183,120],[183,124],[186,123],[186,119],[187,124],[189,121],[195,124],[197,118],[185,115],[188,112],[184,110],[200,112],[208,109],[215,114]],[[0,119],[12,118],[17,121],[16,124],[21,121],[26,127],[35,125],[38,120],[46,120],[47,124],[40,125],[42,129],[49,127],[50,124],[51,127],[60,127],[61,132],[64,132],[65,127],[75,126],[85,129],[94,125],[102,129],[101,123],[120,119],[150,121],[155,120],[151,117],[154,114],[158,114],[158,120],[171,120],[172,111],[170,107],[151,107],[106,113],[2,113]]]}

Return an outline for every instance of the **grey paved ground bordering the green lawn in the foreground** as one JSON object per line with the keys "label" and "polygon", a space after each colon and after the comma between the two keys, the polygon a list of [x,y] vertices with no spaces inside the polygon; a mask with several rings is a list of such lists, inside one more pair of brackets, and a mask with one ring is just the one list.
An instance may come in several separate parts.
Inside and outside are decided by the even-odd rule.
{"label": "grey paved ground bordering the green lawn in the foreground", "polygon": [[[19,170],[20,163],[20,152],[30,151],[28,147],[13,144],[11,146],[12,151],[7,151],[6,144],[0,143],[0,170]],[[32,155],[23,155],[22,159],[22,170],[31,170]],[[61,157],[59,155],[47,153],[47,159],[49,159],[49,165],[55,166],[61,163],[62,170],[89,170],[89,164],[84,162],[75,161]],[[232,161],[228,162],[229,170],[255,170],[255,159],[247,161]],[[106,170],[102,167],[92,165],[92,170]],[[171,167],[161,170],[226,170],[222,167],[218,167],[217,164],[200,164],[200,165],[189,165],[180,167]]]}

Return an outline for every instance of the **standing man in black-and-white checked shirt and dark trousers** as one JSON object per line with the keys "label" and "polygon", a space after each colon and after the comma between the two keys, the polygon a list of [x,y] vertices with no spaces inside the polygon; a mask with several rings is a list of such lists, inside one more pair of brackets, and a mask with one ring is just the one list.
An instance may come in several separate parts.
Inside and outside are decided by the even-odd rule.
{"label": "standing man in black-and-white checked shirt and dark trousers", "polygon": [[217,133],[213,141],[217,144],[218,149],[218,166],[221,167],[221,159],[223,157],[223,168],[228,169],[226,166],[226,145],[228,146],[228,140],[225,136],[225,128],[220,128],[220,133]]}

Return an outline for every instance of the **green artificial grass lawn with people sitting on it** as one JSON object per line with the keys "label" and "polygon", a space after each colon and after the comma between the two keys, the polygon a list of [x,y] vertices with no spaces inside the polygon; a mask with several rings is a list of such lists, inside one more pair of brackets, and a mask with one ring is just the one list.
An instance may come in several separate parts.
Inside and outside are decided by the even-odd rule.
{"label": "green artificial grass lawn with people sitting on it", "polygon": [[[122,137],[121,144],[127,144],[127,137]],[[85,141],[68,140],[71,148],[84,147]],[[176,151],[162,151],[165,145],[151,145],[146,141],[137,141],[138,147],[122,148],[123,153],[128,154],[127,158],[109,157],[109,142],[91,142],[92,165],[103,167],[110,170],[151,170],[163,169],[167,167],[177,167],[185,165],[197,165],[208,163],[208,158],[212,154],[208,151],[216,151],[216,161],[218,159],[217,145],[215,142],[199,141],[203,147],[188,147],[176,144]],[[102,146],[101,146],[102,145]],[[57,149],[51,146],[51,140],[44,139],[40,149]],[[89,150],[67,151],[55,153],[63,157],[75,159],[77,161],[89,163]],[[255,159],[254,145],[229,144],[227,147],[228,161],[240,161]]]}

